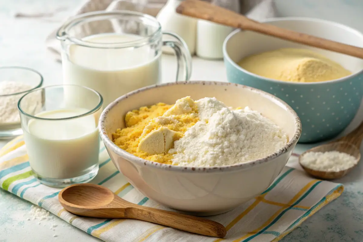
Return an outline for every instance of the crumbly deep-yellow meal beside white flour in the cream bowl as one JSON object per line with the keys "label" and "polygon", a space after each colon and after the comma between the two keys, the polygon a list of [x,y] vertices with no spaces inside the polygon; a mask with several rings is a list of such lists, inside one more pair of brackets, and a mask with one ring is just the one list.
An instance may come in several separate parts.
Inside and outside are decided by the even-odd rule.
{"label": "crumbly deep-yellow meal beside white flour in the cream bowl", "polygon": [[139,144],[148,134],[158,131],[162,127],[175,131],[172,137],[174,143],[175,140],[179,140],[184,136],[189,127],[199,121],[194,101],[189,97],[180,100],[184,100],[190,105],[188,112],[180,111],[178,102],[175,105],[157,103],[150,107],[140,107],[139,110],[127,112],[125,116],[126,128],[117,129],[112,134],[113,142],[118,147],[140,158],[172,164],[172,154],[167,151],[161,154],[143,152],[139,149]]}

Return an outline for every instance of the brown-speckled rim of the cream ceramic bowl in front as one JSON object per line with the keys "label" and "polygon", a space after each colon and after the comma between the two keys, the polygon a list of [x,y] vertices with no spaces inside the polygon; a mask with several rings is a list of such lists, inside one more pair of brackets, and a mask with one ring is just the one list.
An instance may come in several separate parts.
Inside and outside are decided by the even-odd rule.
{"label": "brown-speckled rim of the cream ceramic bowl in front", "polygon": [[[253,93],[257,93],[259,95],[262,95],[262,96],[266,97],[271,102],[279,103],[279,104],[281,104],[282,107],[285,107],[286,111],[290,112],[295,118],[295,127],[296,127],[295,134],[293,135],[293,137],[290,138],[289,142],[286,145],[284,145],[284,147],[282,147],[280,150],[274,152],[271,155],[265,156],[265,157],[263,157],[261,159],[258,159],[258,160],[248,161],[248,162],[245,162],[245,163],[225,165],[225,166],[216,166],[216,167],[186,167],[186,166],[179,166],[179,165],[162,164],[162,163],[158,163],[158,162],[154,162],[154,161],[150,161],[150,160],[145,160],[145,159],[139,158],[137,156],[134,156],[131,153],[119,148],[107,136],[106,128],[104,126],[105,119],[107,118],[107,114],[109,113],[109,111],[113,107],[118,105],[118,103],[121,103],[123,100],[127,99],[128,97],[130,97],[132,95],[135,95],[135,94],[138,94],[138,93],[150,90],[150,89],[164,87],[164,86],[174,86],[174,85],[218,85],[218,86],[231,86],[231,85],[234,85],[234,86],[236,86],[238,88],[248,89],[249,91],[252,91]],[[267,163],[267,162],[275,159],[276,157],[288,152],[291,149],[291,147],[294,147],[294,145],[297,143],[297,141],[300,138],[300,135],[301,135],[301,121],[300,121],[298,115],[296,114],[296,112],[293,110],[293,108],[291,108],[289,105],[287,105],[287,103],[285,103],[281,99],[273,96],[272,94],[266,93],[266,92],[261,91],[259,89],[249,87],[249,86],[240,85],[240,84],[236,84],[236,83],[229,83],[229,82],[215,82],[215,81],[190,81],[190,82],[185,82],[184,81],[184,82],[171,82],[171,83],[151,85],[151,86],[140,88],[140,89],[135,90],[135,91],[131,91],[130,93],[127,93],[125,95],[122,95],[121,97],[117,98],[115,101],[111,102],[102,111],[102,114],[101,114],[101,116],[99,118],[98,130],[99,130],[99,134],[101,135],[101,139],[103,140],[103,142],[106,145],[106,148],[111,149],[111,151],[115,152],[117,155],[119,155],[119,156],[123,157],[124,159],[129,160],[129,161],[131,161],[133,163],[136,163],[136,164],[138,164],[140,166],[144,165],[144,166],[148,166],[148,167],[152,167],[152,168],[158,168],[158,169],[163,169],[163,170],[168,170],[168,171],[177,171],[177,172],[223,172],[223,171],[237,171],[237,170],[240,170],[240,169],[250,168],[250,167],[253,167],[255,165],[264,164],[264,163]]]}

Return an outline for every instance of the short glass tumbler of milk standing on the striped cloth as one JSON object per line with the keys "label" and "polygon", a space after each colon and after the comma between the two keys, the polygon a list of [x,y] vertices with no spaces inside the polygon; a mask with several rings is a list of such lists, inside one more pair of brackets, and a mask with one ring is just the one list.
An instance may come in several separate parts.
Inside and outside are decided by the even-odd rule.
{"label": "short glass tumbler of milk standing on the striped cloth", "polygon": [[[41,104],[27,105],[34,94]],[[20,98],[29,163],[41,183],[64,187],[97,175],[102,103],[97,91],[78,85],[40,87]]]}

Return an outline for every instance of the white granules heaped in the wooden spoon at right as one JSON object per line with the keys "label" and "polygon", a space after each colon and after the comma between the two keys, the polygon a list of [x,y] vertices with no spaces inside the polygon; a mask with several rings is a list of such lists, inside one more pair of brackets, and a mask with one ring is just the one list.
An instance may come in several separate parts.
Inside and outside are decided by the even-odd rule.
{"label": "white granules heaped in the wooden spoon at right", "polygon": [[358,163],[354,156],[338,151],[307,152],[300,158],[300,163],[315,171],[339,172]]}

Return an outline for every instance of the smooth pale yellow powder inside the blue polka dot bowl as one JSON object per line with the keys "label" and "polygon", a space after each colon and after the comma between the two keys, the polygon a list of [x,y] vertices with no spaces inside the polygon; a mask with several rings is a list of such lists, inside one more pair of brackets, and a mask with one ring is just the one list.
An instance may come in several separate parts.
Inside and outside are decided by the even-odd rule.
{"label": "smooth pale yellow powder inside the blue polka dot bowl", "polygon": [[312,50],[282,48],[243,58],[238,65],[261,77],[286,82],[323,82],[352,73]]}

